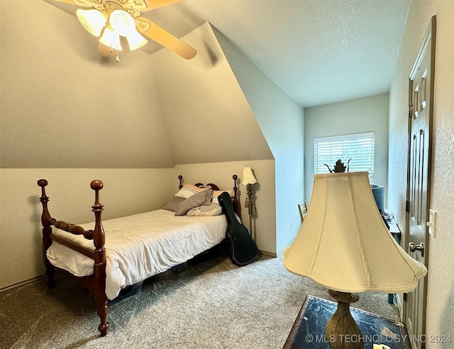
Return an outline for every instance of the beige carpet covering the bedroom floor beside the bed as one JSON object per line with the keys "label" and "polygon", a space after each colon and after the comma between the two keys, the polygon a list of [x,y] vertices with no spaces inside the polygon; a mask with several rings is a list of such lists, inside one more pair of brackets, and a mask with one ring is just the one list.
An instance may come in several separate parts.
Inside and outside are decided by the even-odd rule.
{"label": "beige carpet covering the bedroom floor beside the bed", "polygon": [[[311,279],[288,272],[282,258],[245,267],[218,257],[144,282],[140,294],[111,306],[99,337],[94,301],[67,275],[0,292],[1,348],[282,348],[306,294],[331,299]],[[360,294],[356,308],[397,318],[387,294]]]}

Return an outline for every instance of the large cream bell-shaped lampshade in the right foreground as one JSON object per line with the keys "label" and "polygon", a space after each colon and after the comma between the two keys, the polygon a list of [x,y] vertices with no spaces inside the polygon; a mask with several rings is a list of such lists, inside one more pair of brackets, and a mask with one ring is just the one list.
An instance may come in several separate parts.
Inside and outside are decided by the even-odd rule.
{"label": "large cream bell-shaped lampshade in the right foreground", "polygon": [[314,175],[309,211],[284,266],[341,292],[409,292],[427,272],[387,230],[367,172]]}

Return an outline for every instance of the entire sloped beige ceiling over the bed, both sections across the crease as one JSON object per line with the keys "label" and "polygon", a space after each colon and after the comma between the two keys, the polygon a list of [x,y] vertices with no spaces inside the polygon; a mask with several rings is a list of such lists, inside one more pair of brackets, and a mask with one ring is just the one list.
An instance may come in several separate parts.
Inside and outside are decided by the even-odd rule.
{"label": "entire sloped beige ceiling over the bed, both sections across the crease", "polygon": [[45,1],[0,5],[1,167],[272,159],[208,23],[188,34],[196,60],[138,50],[117,64],[73,14]]}

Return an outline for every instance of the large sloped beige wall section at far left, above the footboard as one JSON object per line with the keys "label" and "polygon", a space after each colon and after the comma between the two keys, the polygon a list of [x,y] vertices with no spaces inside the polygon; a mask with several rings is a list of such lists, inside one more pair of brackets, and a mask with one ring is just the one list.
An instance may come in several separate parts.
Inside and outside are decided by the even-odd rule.
{"label": "large sloped beige wall section at far left, above the footboard", "polygon": [[173,167],[152,57],[102,60],[65,6],[1,1],[1,167]]}

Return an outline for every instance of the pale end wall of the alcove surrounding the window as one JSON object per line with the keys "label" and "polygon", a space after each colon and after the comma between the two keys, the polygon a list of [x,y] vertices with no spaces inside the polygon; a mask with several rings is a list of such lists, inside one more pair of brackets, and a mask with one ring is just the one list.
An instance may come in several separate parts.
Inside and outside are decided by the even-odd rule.
{"label": "pale end wall of the alcove surrounding the window", "polygon": [[388,98],[388,94],[379,94],[304,110],[304,180],[308,201],[311,199],[314,183],[314,138],[317,137],[373,131],[375,134],[374,183],[387,187]]}

